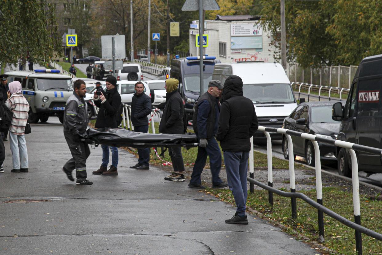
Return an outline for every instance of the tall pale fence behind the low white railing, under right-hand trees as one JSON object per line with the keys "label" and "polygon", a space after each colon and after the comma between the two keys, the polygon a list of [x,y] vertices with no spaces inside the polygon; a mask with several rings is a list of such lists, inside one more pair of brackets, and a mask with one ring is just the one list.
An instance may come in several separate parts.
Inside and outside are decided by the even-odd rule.
{"label": "tall pale fence behind the low white railing, under right-hand trees", "polygon": [[290,81],[309,84],[350,88],[357,66],[331,66],[322,68],[303,68],[298,64],[288,64],[286,73]]}

